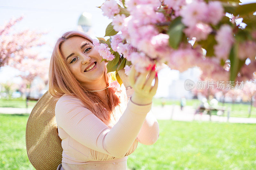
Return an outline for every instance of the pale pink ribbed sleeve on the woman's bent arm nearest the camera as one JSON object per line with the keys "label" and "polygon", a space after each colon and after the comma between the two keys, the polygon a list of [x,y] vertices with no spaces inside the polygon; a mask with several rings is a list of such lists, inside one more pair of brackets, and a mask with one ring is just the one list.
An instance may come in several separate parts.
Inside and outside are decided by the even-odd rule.
{"label": "pale pink ribbed sleeve on the woman's bent arm nearest the camera", "polygon": [[151,104],[139,106],[128,101],[127,108],[112,129],[108,128],[75,97],[63,95],[55,107],[56,122],[70,137],[84,146],[116,158],[130,149]]}

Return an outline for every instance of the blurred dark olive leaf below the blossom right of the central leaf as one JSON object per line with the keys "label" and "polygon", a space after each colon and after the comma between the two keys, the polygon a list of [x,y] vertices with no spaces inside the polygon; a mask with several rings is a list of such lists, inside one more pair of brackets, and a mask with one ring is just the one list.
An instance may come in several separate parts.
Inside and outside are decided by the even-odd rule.
{"label": "blurred dark olive leaf below the blossom right of the central leaf", "polygon": [[214,56],[213,46],[217,44],[217,42],[213,34],[209,34],[206,40],[199,41],[198,44],[200,44],[202,48],[206,50],[206,56],[209,56],[209,57]]}

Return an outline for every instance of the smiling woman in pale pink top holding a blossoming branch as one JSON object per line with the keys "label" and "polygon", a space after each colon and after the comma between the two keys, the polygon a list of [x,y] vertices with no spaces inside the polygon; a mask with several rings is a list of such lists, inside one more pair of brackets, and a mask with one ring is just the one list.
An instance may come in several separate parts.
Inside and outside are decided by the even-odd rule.
{"label": "smiling woman in pale pink top holding a blossoming branch", "polygon": [[101,59],[92,38],[77,31],[64,33],[53,49],[49,92],[58,98],[55,115],[63,148],[58,169],[126,170],[137,141],[151,145],[159,137],[150,111],[158,85],[155,66],[142,74],[132,66],[129,77],[124,69],[118,71],[127,93],[119,98],[109,88]]}

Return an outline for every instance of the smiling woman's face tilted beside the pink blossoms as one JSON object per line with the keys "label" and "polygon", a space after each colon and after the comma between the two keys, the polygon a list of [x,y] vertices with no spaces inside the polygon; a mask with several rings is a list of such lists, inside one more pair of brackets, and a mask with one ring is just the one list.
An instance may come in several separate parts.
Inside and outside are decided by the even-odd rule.
{"label": "smiling woman's face tilted beside the pink blossoms", "polygon": [[[93,85],[105,78],[105,61],[100,63],[102,57],[89,40],[79,36],[71,37],[60,46],[60,50],[77,80]],[[90,67],[92,69],[87,70]]]}

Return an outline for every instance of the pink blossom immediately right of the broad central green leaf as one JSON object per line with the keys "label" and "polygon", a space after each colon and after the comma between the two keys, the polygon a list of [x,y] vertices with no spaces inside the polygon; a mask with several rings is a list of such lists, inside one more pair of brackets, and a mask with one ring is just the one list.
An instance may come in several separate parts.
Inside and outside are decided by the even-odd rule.
{"label": "pink blossom immediately right of the broad central green leaf", "polygon": [[184,29],[184,33],[189,37],[199,40],[206,40],[209,33],[212,32],[212,27],[208,24],[204,23],[197,23],[195,26],[189,26],[188,28]]}

